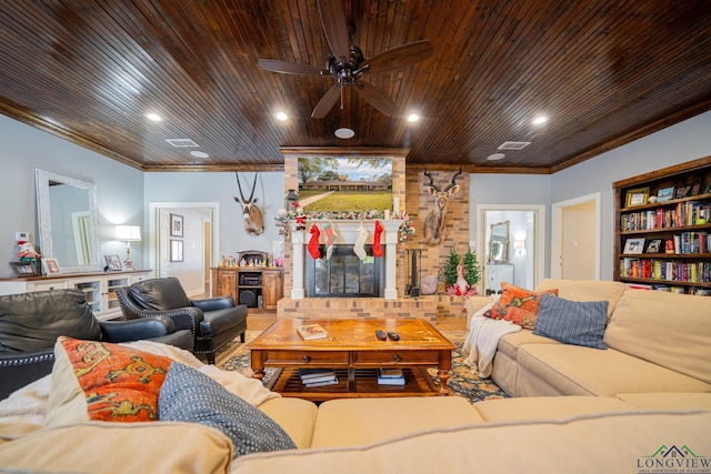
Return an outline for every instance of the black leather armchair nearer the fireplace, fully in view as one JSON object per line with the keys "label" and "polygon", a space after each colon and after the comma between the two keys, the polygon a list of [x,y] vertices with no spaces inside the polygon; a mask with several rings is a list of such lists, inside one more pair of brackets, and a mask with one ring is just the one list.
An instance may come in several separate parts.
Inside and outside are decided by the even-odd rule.
{"label": "black leather armchair nearer the fireplace, fully in view", "polygon": [[234,304],[230,296],[190,300],[174,276],[144,280],[117,289],[127,320],[167,316],[176,327],[190,329],[196,355],[206,355],[214,364],[214,354],[238,335],[244,342],[247,305]]}

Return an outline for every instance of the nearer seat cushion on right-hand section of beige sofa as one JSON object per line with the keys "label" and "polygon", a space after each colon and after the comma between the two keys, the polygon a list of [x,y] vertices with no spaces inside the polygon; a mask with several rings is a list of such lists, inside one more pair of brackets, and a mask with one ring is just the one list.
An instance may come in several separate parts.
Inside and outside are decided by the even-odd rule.
{"label": "nearer seat cushion on right-hand section of beige sofa", "polygon": [[710,384],[613,349],[530,344],[519,349],[518,362],[519,376],[527,372],[563,395],[711,390]]}

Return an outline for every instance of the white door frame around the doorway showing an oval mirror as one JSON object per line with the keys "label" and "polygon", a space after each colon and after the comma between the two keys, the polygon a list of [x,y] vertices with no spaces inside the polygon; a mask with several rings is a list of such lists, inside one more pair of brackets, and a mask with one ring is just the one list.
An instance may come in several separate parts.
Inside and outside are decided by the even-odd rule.
{"label": "white door frame around the doorway showing an oval mirror", "polygon": [[484,213],[487,211],[521,211],[533,212],[535,225],[535,245],[533,256],[533,285],[535,286],[545,276],[545,204],[477,204],[477,260],[482,265],[482,278],[479,280],[479,291],[483,295],[487,249],[487,226]]}

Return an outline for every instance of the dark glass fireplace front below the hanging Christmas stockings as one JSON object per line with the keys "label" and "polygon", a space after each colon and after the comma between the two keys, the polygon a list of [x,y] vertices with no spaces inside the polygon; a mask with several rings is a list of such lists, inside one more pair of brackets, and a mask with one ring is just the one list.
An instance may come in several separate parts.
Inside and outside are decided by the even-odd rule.
{"label": "dark glass fireplace front below the hanging Christmas stockings", "polygon": [[[336,245],[330,260],[308,259],[306,291],[309,297],[380,297],[383,280],[381,258],[372,255],[372,245],[365,245],[369,256],[360,260],[353,245]],[[326,245],[321,245],[326,255]]]}

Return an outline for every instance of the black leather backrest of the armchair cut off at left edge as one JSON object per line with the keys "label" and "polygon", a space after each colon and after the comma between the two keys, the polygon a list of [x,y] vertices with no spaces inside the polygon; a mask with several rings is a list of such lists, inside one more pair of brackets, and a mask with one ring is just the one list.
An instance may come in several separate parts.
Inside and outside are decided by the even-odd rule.
{"label": "black leather backrest of the armchair cut off at left edge", "polygon": [[51,349],[60,335],[99,341],[101,329],[79,290],[0,296],[0,352]]}

